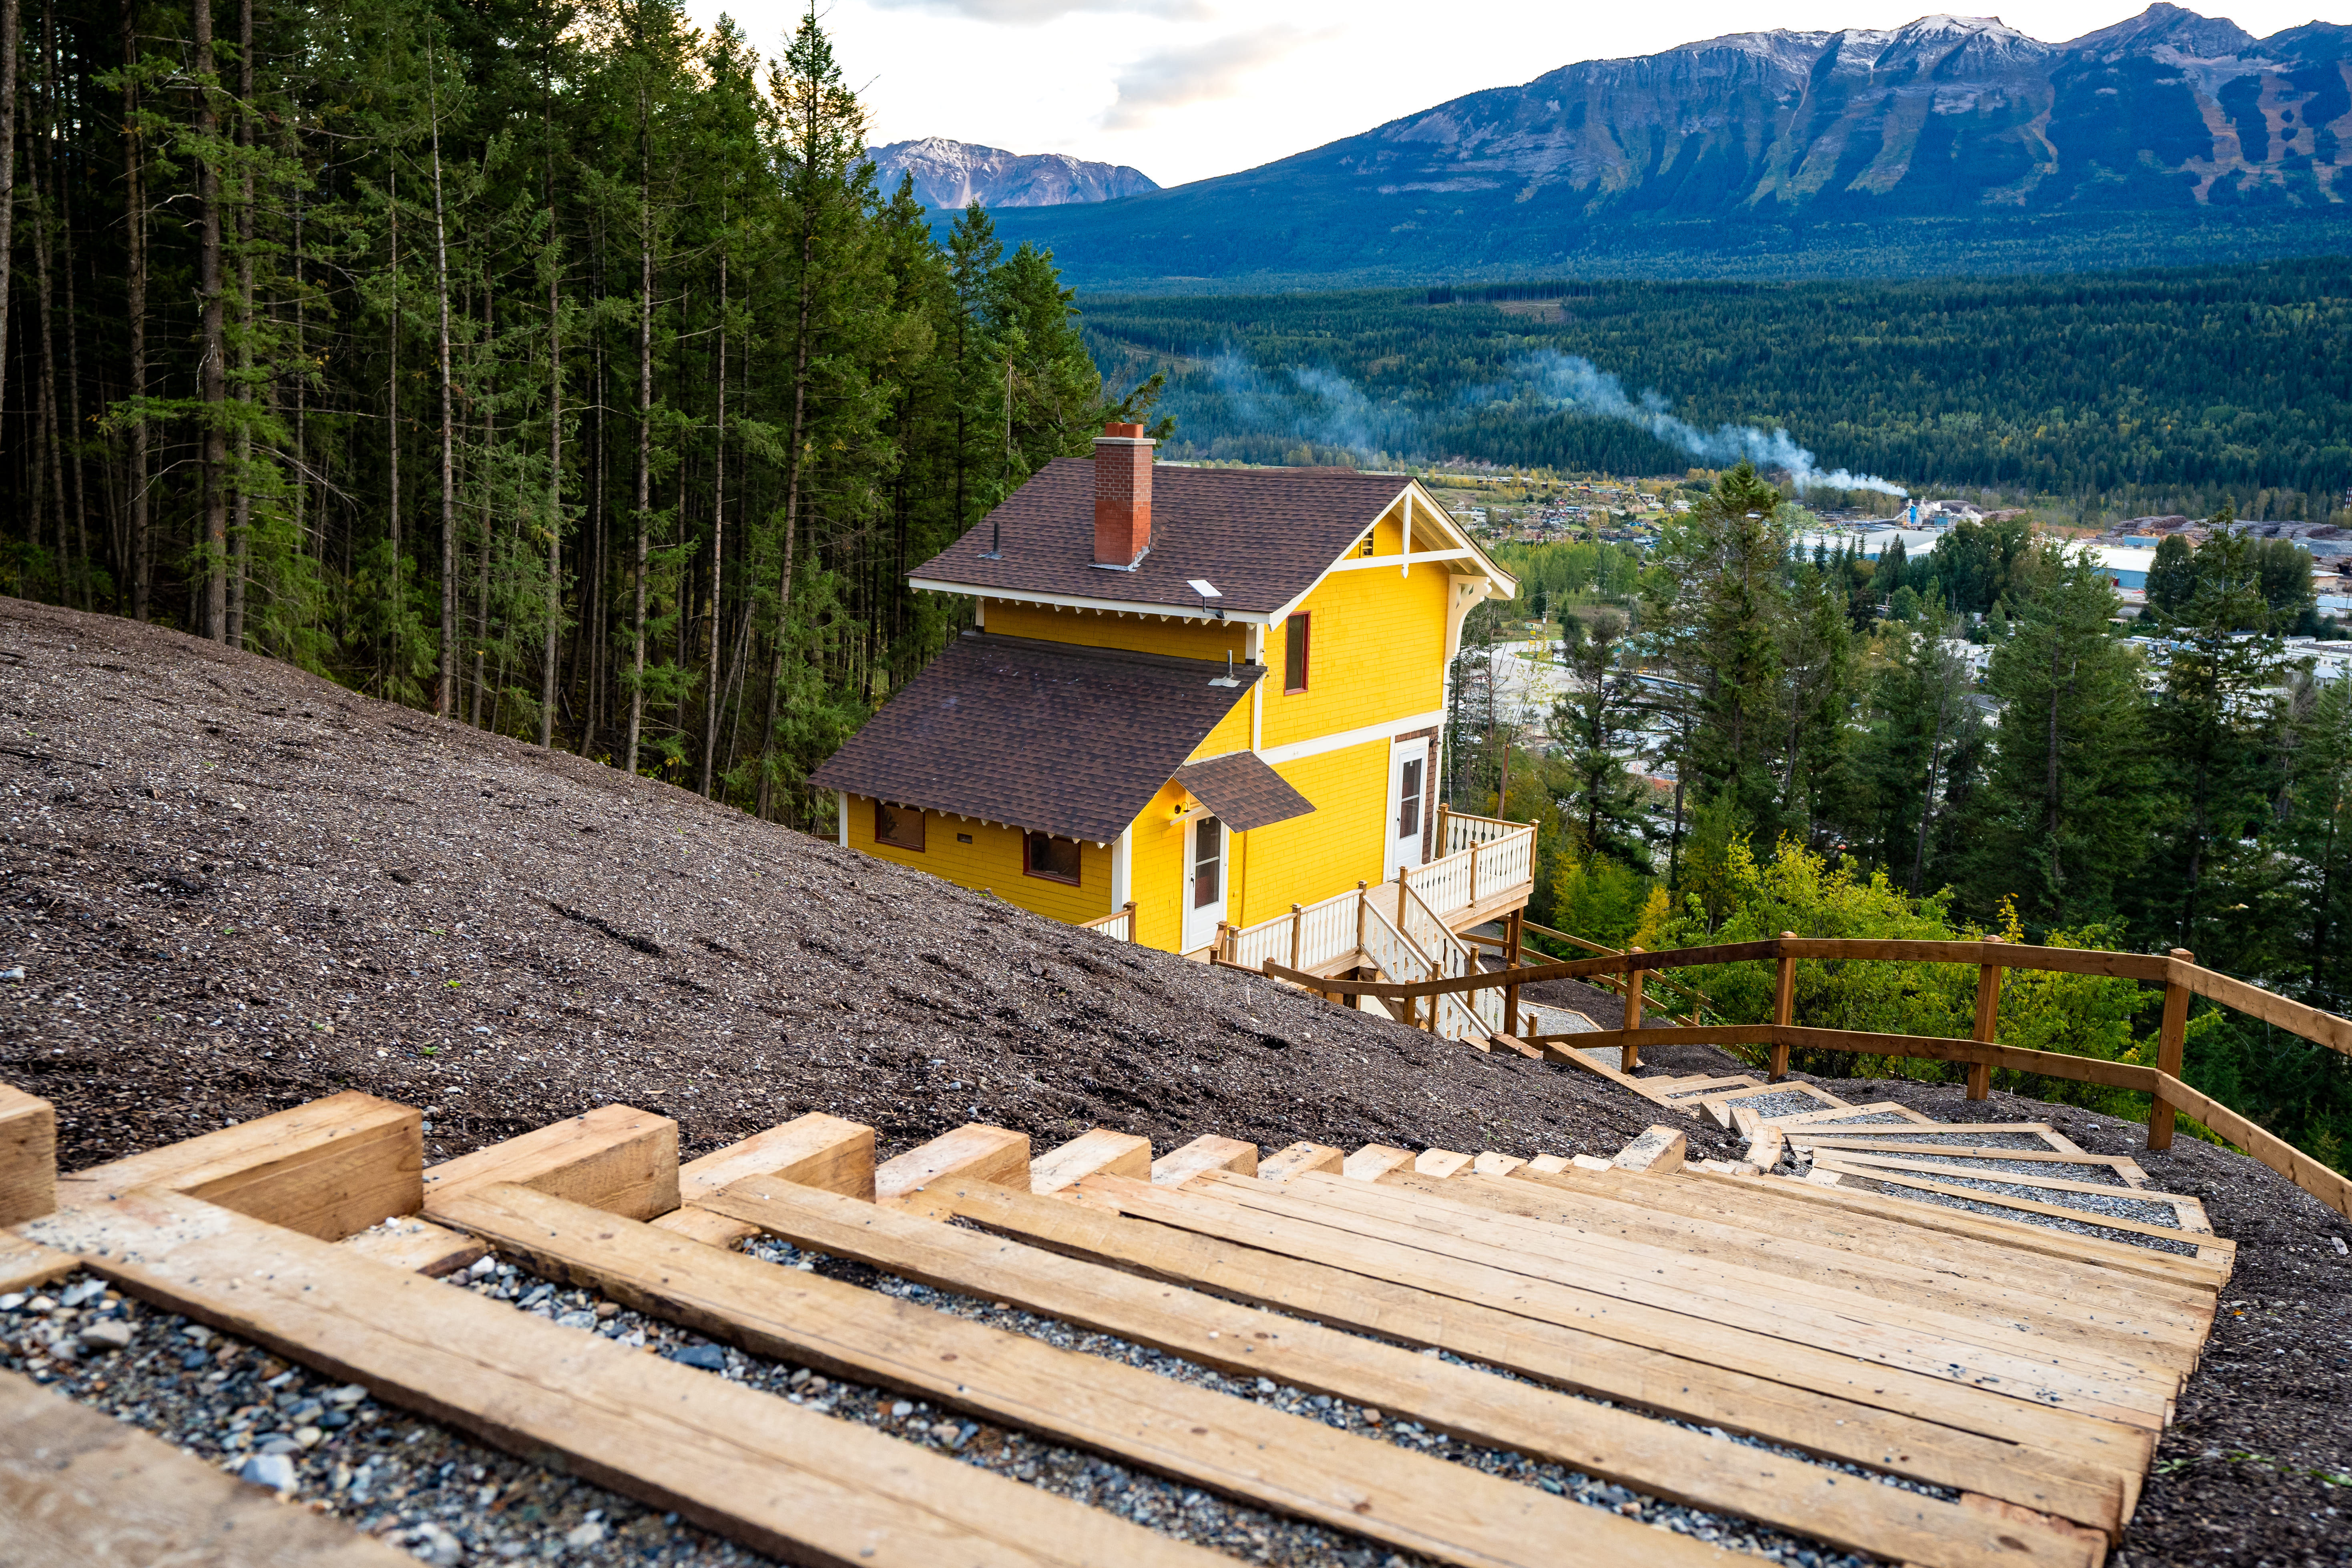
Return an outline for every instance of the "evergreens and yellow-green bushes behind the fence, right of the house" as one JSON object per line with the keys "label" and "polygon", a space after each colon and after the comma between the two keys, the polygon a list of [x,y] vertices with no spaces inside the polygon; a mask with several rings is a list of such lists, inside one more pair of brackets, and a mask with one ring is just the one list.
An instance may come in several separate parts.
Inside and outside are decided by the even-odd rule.
{"label": "evergreens and yellow-green bushes behind the fence, right of the house", "polygon": [[[1644,947],[1778,931],[2187,947],[2352,1011],[2352,682],[2284,642],[2312,614],[2310,557],[2211,522],[2201,545],[2169,543],[2126,625],[2093,559],[2023,524],[1867,562],[1802,548],[1806,515],[1726,470],[1665,524],[1637,592],[1576,611],[1548,748],[1519,748],[1503,804],[1550,846],[1534,919]],[[1489,806],[1494,621],[1468,630],[1456,682],[1463,792],[1484,780]],[[1980,686],[1971,637],[1990,644]],[[1820,1009],[1966,1034],[1964,1004],[1943,1027],[1950,985],[1915,969],[1865,999],[1823,978]],[[2053,1048],[2117,1056],[2152,1034],[2157,999],[2089,987],[2053,1006]],[[2343,1056],[2199,1009],[2190,1077],[2321,1159],[2352,1154]]]}

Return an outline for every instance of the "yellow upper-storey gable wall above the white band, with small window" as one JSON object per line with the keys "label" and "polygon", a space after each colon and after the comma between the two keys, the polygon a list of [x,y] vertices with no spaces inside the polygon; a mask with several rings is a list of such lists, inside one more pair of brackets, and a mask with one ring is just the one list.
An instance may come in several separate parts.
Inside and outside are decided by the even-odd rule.
{"label": "yellow upper-storey gable wall above the white band, with small window", "polygon": [[1282,691],[1287,630],[1268,630],[1265,729],[1261,745],[1291,745],[1364,724],[1385,724],[1444,703],[1446,677],[1444,564],[1409,574],[1334,571],[1303,614],[1308,623],[1308,689]]}

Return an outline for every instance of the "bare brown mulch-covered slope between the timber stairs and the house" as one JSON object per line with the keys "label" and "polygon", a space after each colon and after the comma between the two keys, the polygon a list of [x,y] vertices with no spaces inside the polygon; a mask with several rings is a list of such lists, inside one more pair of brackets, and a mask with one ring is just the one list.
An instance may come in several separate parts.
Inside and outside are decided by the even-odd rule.
{"label": "bare brown mulch-covered slope between the timber stairs and the house", "polygon": [[0,599],[0,1079],[68,1168],[336,1088],[428,1157],[621,1100],[708,1150],[807,1110],[896,1152],[1616,1152],[1649,1110],[1115,945],[670,785],[106,616]]}

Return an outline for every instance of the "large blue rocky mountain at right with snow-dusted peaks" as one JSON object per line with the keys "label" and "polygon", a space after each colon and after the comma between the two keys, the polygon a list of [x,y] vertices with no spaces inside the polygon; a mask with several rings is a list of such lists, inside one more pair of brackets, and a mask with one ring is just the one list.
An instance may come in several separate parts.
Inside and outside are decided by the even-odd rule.
{"label": "large blue rocky mountain at right with snow-dusted peaks", "polygon": [[[2180,266],[2352,249],[2352,28],[2152,5],[2051,45],[1990,16],[1576,61],[1254,169],[1056,214],[1087,287],[1529,268]],[[1919,252],[1919,254],[1915,254]],[[1943,266],[1971,270],[1971,266]]]}

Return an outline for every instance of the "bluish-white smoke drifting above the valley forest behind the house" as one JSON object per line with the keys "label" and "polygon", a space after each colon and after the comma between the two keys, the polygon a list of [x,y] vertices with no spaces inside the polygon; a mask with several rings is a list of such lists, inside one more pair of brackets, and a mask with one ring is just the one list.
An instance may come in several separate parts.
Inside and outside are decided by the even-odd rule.
{"label": "bluish-white smoke drifting above the valley forest behind the house", "polygon": [[[1348,451],[1425,451],[1425,416],[1402,402],[1376,402],[1364,388],[1329,369],[1287,369],[1268,376],[1235,350],[1209,360],[1209,374],[1225,397],[1230,416],[1265,433],[1310,440]],[[1757,468],[1788,470],[1797,489],[1867,489],[1884,496],[1907,494],[1900,484],[1844,468],[1823,470],[1811,451],[1788,430],[1759,425],[1715,425],[1712,430],[1677,418],[1658,393],[1628,397],[1625,383],[1578,355],[1545,348],[1505,367],[1505,381],[1461,395],[1456,411],[1491,404],[1522,404],[1529,414],[1573,411],[1592,418],[1616,418],[1649,430],[1670,447],[1722,468],[1752,461]]]}

